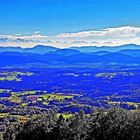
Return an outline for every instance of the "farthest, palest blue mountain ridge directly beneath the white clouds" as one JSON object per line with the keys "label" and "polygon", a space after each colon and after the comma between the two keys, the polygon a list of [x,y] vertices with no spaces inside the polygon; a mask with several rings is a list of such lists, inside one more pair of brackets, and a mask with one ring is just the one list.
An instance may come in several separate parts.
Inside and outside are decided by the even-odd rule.
{"label": "farthest, palest blue mountain ridge directly beneath the white clouds", "polygon": [[[140,45],[135,44],[128,44],[128,45],[122,45],[122,46],[82,46],[82,47],[69,47],[67,49],[59,49],[53,46],[43,46],[43,45],[37,45],[33,48],[21,48],[21,47],[0,47],[0,52],[22,52],[22,53],[39,53],[39,54],[45,54],[48,52],[55,52],[58,54],[74,54],[74,53],[94,53],[99,52],[101,54],[106,54],[107,52],[118,52],[122,50],[140,50]],[[100,55],[99,53],[99,55]]]}

